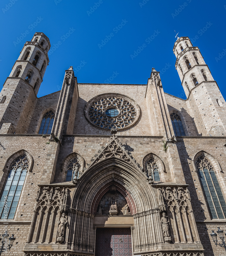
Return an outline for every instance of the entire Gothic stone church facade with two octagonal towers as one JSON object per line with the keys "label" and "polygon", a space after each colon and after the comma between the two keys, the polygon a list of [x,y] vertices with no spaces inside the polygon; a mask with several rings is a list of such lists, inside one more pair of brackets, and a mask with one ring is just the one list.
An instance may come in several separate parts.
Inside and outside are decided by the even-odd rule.
{"label": "entire Gothic stone church facade with two octagonal towers", "polygon": [[37,98],[50,47],[35,33],[0,95],[8,253],[226,255],[210,236],[226,229],[226,103],[199,48],[173,47],[186,100],[154,68],[147,84],[84,84],[70,67]]}

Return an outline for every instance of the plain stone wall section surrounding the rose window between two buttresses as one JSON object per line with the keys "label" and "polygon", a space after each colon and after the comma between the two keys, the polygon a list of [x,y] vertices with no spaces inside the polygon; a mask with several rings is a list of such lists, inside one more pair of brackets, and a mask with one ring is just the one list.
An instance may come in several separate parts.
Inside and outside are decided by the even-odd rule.
{"label": "plain stone wall section surrounding the rose window between two buttresses", "polygon": [[78,84],[78,90],[79,100],[73,134],[107,135],[108,131],[94,127],[85,119],[84,108],[86,103],[96,95],[102,93],[120,93],[132,98],[141,108],[141,115],[137,123],[128,130],[119,132],[120,135],[131,135],[131,129],[133,135],[152,135],[145,100],[146,85]]}

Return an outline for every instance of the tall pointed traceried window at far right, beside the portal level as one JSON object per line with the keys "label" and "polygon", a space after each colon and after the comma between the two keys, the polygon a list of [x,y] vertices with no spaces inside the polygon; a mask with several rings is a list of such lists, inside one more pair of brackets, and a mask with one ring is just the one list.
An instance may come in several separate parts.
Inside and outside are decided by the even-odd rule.
{"label": "tall pointed traceried window at far right, beside the portal level", "polygon": [[196,168],[212,218],[225,219],[226,203],[214,167],[201,155],[196,159]]}

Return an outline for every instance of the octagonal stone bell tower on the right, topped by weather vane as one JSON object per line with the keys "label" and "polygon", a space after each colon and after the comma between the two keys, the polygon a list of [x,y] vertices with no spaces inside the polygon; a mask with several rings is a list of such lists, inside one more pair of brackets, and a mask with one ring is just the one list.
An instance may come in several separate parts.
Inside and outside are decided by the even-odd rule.
{"label": "octagonal stone bell tower on the right, topped by weather vane", "polygon": [[178,37],[173,52],[197,131],[202,136],[225,136],[226,103],[199,48],[188,37]]}

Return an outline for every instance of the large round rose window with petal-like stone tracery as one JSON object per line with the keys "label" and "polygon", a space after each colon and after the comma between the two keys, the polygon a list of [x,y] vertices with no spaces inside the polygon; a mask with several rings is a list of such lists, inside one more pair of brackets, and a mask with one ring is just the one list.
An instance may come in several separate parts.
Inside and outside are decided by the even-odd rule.
{"label": "large round rose window with petal-like stone tracery", "polygon": [[127,96],[102,94],[87,103],[85,116],[92,125],[101,129],[126,129],[138,120],[140,108]]}

